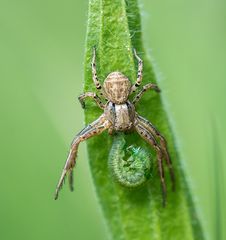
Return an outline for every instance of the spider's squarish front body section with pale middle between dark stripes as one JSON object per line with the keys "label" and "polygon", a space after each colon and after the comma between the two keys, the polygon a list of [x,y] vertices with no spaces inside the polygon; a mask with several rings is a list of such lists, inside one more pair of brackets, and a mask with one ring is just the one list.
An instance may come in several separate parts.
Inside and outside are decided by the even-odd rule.
{"label": "spider's squarish front body section with pale middle between dark stripes", "polygon": [[105,114],[115,131],[127,131],[133,127],[135,110],[129,101],[124,104],[109,102]]}

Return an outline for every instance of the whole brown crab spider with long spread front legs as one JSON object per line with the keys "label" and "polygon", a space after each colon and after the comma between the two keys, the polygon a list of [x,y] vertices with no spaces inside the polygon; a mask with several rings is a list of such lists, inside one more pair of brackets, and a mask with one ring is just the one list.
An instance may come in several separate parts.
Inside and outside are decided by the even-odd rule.
{"label": "whole brown crab spider with long spread front legs", "polygon": [[143,61],[137,55],[135,49],[134,55],[138,61],[138,74],[135,84],[132,85],[129,79],[121,72],[111,72],[105,79],[102,86],[97,77],[95,63],[96,50],[94,48],[91,63],[92,78],[96,89],[100,91],[100,95],[107,100],[107,103],[103,103],[101,98],[94,92],[86,92],[78,97],[83,108],[85,108],[84,100],[86,98],[92,98],[96,102],[97,106],[104,112],[97,120],[90,123],[81,132],[79,132],[72,141],[62,175],[56,188],[55,199],[58,198],[59,190],[61,189],[64,178],[67,174],[69,174],[70,189],[73,190],[72,171],[76,163],[79,144],[95,135],[101,134],[107,129],[109,134],[113,134],[113,132],[131,132],[135,130],[155,149],[161,182],[163,205],[165,205],[166,201],[166,184],[164,179],[163,159],[165,159],[169,168],[172,188],[174,189],[174,171],[167,150],[167,142],[151,122],[140,116],[135,111],[135,105],[139,102],[145,91],[150,89],[160,92],[160,89],[157,85],[148,83],[142,87],[132,101],[129,100],[130,94],[134,93],[142,82]]}

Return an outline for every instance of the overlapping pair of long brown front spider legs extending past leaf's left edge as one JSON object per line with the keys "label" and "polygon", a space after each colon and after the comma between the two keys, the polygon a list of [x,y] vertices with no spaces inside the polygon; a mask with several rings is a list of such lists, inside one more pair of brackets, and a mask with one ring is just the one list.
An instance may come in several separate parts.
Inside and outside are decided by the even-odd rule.
{"label": "overlapping pair of long brown front spider legs extending past leaf's left edge", "polygon": [[71,149],[68,154],[66,163],[63,168],[63,172],[61,174],[60,180],[57,184],[56,192],[55,192],[55,199],[58,198],[59,190],[62,187],[62,184],[64,182],[64,178],[67,173],[69,173],[69,184],[70,189],[73,190],[72,186],[72,171],[75,166],[75,159],[77,156],[78,146],[79,143],[82,141],[85,141],[86,139],[98,135],[102,133],[104,130],[108,129],[110,127],[110,122],[106,120],[105,115],[102,114],[96,121],[89,124],[87,127],[85,127],[80,133],[76,135],[74,140],[71,144]]}

